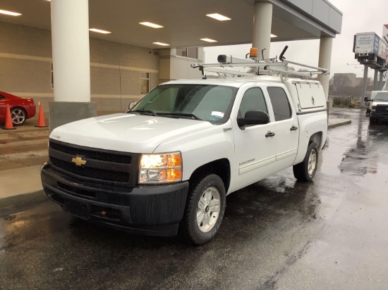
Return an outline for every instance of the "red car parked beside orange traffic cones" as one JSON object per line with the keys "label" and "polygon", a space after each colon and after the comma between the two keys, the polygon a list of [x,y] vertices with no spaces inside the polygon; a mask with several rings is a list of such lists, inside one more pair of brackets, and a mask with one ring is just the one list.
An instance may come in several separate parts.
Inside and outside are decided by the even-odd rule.
{"label": "red car parked beside orange traffic cones", "polygon": [[20,98],[13,94],[0,92],[0,122],[6,121],[7,103],[11,111],[13,125],[22,125],[25,120],[35,116],[37,111],[33,99]]}

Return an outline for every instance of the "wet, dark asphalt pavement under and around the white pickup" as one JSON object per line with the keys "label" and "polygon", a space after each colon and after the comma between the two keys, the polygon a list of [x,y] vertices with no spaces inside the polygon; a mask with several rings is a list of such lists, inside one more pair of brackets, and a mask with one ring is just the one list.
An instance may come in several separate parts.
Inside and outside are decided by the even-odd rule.
{"label": "wet, dark asphalt pavement under and around the white pickup", "polygon": [[204,246],[90,225],[47,199],[1,208],[0,289],[387,289],[388,125],[334,109],[314,181],[227,197]]}

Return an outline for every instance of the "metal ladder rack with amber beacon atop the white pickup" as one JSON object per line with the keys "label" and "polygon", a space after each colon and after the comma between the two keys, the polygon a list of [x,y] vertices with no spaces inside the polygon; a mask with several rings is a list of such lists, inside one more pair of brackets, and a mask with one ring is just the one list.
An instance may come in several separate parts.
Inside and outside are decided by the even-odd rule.
{"label": "metal ladder rack with amber beacon atop the white pickup", "polygon": [[[284,53],[286,52],[286,46],[281,52],[279,59],[269,58],[265,60],[260,60],[257,58],[257,52],[250,51],[250,58],[236,58],[234,56],[227,56],[221,54],[218,56],[217,61],[219,63],[195,63],[192,64],[192,68],[199,68],[202,71],[202,75],[206,77],[205,72],[217,73],[217,75],[238,75],[238,76],[253,76],[253,75],[279,75],[281,82],[284,81],[284,77],[287,77],[288,74],[299,75],[303,77],[313,77],[313,75],[329,75],[329,70],[326,68],[318,68],[311,65],[305,65],[303,63],[296,63],[294,61],[286,61],[284,58]],[[253,56],[252,56],[253,55]],[[248,55],[247,55],[248,56]],[[296,71],[294,68],[290,67],[289,64],[299,65],[304,68],[312,68],[314,70],[307,71]],[[247,72],[240,70],[230,70],[229,68],[248,68]]]}

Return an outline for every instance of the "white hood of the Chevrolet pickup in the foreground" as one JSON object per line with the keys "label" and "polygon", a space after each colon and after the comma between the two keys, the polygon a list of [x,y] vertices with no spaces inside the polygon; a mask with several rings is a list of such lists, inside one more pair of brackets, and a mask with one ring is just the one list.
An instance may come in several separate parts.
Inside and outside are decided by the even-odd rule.
{"label": "white hood of the Chevrolet pickup in the foreground", "polygon": [[79,146],[152,153],[159,144],[214,127],[210,122],[119,113],[55,128],[50,138]]}

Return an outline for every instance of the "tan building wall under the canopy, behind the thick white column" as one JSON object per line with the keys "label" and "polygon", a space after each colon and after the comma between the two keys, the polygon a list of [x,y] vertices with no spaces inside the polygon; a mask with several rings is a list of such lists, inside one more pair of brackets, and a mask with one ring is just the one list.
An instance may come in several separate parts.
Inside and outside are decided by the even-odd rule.
{"label": "tan building wall under the canopy, behind the thick white column", "polygon": [[[51,61],[50,30],[0,22],[0,91],[32,97],[49,111]],[[150,89],[156,87],[157,49],[90,38],[91,101],[97,111],[126,111],[128,103],[138,101],[142,72],[150,73]]]}

